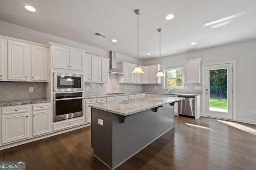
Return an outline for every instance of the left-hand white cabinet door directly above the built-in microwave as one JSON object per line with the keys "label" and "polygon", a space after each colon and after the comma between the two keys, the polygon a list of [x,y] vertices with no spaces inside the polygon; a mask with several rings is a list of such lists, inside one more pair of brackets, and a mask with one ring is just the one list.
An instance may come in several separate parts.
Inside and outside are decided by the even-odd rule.
{"label": "left-hand white cabinet door directly above the built-in microwave", "polygon": [[52,67],[70,69],[69,49],[52,46]]}

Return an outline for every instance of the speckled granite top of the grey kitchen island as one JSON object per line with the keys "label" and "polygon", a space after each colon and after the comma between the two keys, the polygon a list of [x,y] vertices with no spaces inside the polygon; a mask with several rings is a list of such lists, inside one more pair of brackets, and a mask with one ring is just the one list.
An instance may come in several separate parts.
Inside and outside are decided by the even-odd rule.
{"label": "speckled granite top of the grey kitchen island", "polygon": [[116,113],[118,115],[130,115],[140,111],[148,110],[154,107],[162,106],[183,100],[184,98],[175,97],[144,97],[131,100],[122,100],[116,102],[106,102],[102,104],[89,105],[92,108],[108,111],[110,113]]}

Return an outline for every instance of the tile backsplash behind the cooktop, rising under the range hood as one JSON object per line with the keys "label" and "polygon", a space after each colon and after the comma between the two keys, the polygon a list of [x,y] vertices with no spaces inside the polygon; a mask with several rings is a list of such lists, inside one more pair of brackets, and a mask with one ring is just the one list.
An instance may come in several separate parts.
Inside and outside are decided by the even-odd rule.
{"label": "tile backsplash behind the cooktop, rising under the range hood", "polygon": [[[86,90],[86,87],[89,90]],[[100,90],[99,90],[100,87]],[[85,83],[84,96],[104,95],[107,93],[143,92],[143,84],[118,84],[118,75],[109,74],[108,83]]]}

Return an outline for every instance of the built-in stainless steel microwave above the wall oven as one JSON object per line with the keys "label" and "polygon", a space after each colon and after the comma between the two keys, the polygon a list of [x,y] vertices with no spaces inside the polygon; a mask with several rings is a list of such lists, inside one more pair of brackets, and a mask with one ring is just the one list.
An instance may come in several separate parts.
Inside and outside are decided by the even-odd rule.
{"label": "built-in stainless steel microwave above the wall oven", "polygon": [[69,73],[53,73],[54,92],[83,91],[83,75]]}

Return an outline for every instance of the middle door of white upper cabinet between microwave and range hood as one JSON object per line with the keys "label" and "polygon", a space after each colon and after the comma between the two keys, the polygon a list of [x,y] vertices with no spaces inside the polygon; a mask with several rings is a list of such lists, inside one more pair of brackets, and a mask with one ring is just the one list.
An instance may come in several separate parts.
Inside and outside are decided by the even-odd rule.
{"label": "middle door of white upper cabinet between microwave and range hood", "polygon": [[101,59],[92,58],[92,82],[101,82]]}

